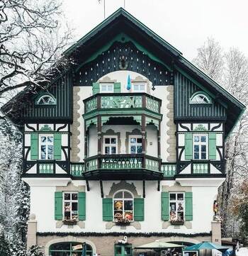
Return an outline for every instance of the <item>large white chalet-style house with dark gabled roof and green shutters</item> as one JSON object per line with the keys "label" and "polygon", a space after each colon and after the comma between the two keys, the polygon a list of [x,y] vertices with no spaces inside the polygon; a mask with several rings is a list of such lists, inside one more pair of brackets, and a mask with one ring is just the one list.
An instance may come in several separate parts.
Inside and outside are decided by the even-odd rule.
{"label": "large white chalet-style house with dark gabled roof and green shutters", "polygon": [[2,108],[23,128],[28,246],[130,256],[155,240],[220,243],[213,202],[244,105],[123,9],[64,56],[75,65],[48,89]]}

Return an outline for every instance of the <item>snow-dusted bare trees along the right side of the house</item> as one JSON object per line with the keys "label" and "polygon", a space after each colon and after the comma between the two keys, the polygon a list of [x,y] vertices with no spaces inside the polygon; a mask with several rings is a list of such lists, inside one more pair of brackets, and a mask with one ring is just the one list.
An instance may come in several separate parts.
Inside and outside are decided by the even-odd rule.
{"label": "snow-dusted bare trees along the right side of the house", "polygon": [[[237,48],[222,52],[220,44],[213,38],[198,48],[198,56],[193,62],[222,87],[248,105],[248,59]],[[231,210],[231,196],[248,173],[248,116],[247,112],[239,119],[237,126],[225,143],[226,174],[225,182],[219,189],[218,201],[222,215],[222,235],[240,234],[240,222]]]}

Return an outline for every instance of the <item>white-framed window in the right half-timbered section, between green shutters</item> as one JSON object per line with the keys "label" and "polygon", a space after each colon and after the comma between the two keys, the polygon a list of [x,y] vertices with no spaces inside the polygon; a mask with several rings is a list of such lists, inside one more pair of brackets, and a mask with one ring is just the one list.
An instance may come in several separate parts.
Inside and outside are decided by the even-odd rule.
{"label": "white-framed window in the right half-timbered section, between green shutters", "polygon": [[208,135],[207,134],[193,135],[193,159],[195,160],[208,159]]}

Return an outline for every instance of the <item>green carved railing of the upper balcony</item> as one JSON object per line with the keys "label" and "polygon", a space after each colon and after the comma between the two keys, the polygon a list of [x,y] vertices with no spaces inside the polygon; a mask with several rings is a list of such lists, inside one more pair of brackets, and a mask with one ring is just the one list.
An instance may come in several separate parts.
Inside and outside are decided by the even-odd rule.
{"label": "green carved railing of the upper balcony", "polygon": [[85,114],[99,109],[146,108],[160,113],[161,100],[145,93],[96,94],[84,99]]}

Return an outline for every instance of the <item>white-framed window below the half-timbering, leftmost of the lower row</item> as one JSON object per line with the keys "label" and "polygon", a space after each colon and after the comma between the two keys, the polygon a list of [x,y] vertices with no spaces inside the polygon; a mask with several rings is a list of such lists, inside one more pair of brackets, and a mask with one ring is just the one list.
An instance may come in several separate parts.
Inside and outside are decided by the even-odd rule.
{"label": "white-framed window below the half-timbering, leftmost of the lower row", "polygon": [[63,192],[63,217],[65,221],[78,219],[78,193]]}

